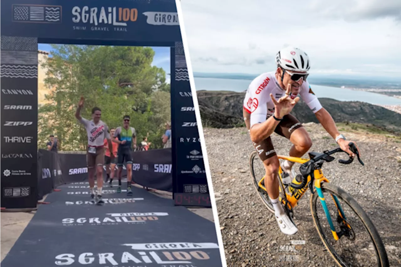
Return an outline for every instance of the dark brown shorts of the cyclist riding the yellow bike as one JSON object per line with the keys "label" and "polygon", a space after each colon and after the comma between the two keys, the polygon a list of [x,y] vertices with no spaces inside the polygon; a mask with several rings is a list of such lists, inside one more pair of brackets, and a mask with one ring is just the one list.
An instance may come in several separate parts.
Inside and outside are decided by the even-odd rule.
{"label": "dark brown shorts of the cyclist riding the yellow bike", "polygon": [[[301,122],[299,120],[292,116],[291,114],[288,114],[283,117],[282,121],[280,121],[279,124],[277,124],[277,127],[275,128],[274,132],[277,133],[278,135],[281,135],[282,137],[286,137],[287,139],[290,139],[290,136],[292,132],[294,132],[295,129],[298,129],[302,127]],[[261,141],[260,143],[253,143],[253,147],[255,147],[257,153],[259,154],[259,158],[262,161],[265,161],[266,159],[269,159],[275,155],[273,143],[271,142],[271,138],[267,137],[265,140]]]}

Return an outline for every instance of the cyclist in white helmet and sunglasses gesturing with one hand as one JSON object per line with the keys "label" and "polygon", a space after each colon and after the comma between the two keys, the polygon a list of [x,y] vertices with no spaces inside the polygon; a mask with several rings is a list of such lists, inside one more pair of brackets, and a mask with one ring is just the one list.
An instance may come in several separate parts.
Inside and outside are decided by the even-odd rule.
{"label": "cyclist in white helmet and sunglasses gesturing with one hand", "polygon": [[[265,166],[265,188],[274,207],[276,221],[284,234],[293,235],[298,229],[279,202],[279,160],[270,136],[276,132],[289,139],[293,143],[290,149],[292,157],[302,157],[310,149],[312,141],[308,132],[298,119],[290,114],[300,100],[298,95],[340,148],[352,157],[355,155],[348,147],[348,143],[353,141],[346,141],[345,137],[340,135],[332,116],[322,107],[306,80],[310,69],[308,55],[301,49],[287,47],[277,53],[275,61],[275,71],[259,75],[249,85],[244,99],[243,114],[253,146]],[[295,177],[293,165],[290,161],[284,161],[281,165],[291,180]]]}

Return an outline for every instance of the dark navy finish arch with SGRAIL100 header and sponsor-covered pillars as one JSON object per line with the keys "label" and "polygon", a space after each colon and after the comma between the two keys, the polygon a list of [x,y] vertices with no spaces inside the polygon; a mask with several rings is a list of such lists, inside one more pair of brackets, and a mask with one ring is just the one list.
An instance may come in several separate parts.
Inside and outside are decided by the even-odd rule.
{"label": "dark navy finish arch with SGRAIL100 header and sponsor-covered pillars", "polygon": [[0,149],[33,156],[0,158],[0,207],[37,205],[38,114],[4,106],[37,110],[38,43],[170,47],[174,200],[211,206],[195,113],[181,112],[193,101],[174,0],[2,0],[0,23]]}

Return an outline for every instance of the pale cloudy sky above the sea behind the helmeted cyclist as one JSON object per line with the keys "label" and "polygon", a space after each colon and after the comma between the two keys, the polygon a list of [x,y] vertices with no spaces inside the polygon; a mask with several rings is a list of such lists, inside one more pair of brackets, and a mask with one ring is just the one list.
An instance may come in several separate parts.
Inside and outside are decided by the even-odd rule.
{"label": "pale cloudy sky above the sea behind the helmeted cyclist", "polygon": [[194,72],[257,74],[296,46],[311,73],[401,76],[401,0],[181,0]]}

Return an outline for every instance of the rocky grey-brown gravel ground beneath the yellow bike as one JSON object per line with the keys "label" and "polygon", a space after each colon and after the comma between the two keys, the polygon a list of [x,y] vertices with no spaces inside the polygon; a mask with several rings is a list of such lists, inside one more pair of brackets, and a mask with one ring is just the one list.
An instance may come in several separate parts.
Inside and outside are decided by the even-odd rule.
{"label": "rocky grey-brown gravel ground beneath the yellow bike", "polygon": [[[320,124],[304,126],[313,141],[311,150],[336,146]],[[282,234],[255,191],[249,171],[253,146],[246,128],[204,128],[204,133],[228,266],[336,266],[314,227],[310,191],[295,209],[298,233]],[[365,166],[336,160],[324,164],[324,174],[363,207],[385,243],[390,266],[401,266],[401,143],[384,135],[342,133],[357,142]],[[279,154],[288,155],[288,140],[276,134],[272,140]],[[345,154],[336,157],[346,159]],[[297,252],[288,251],[291,240],[306,243]]]}

